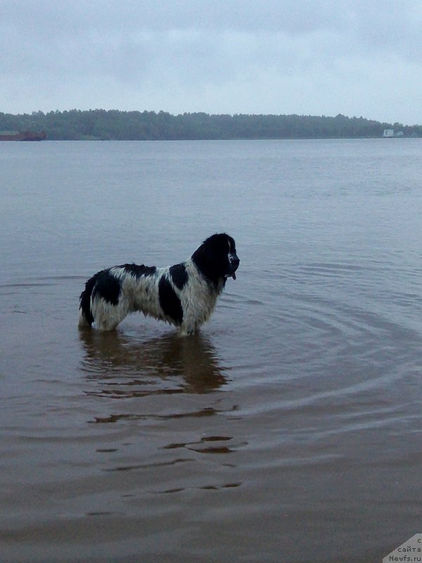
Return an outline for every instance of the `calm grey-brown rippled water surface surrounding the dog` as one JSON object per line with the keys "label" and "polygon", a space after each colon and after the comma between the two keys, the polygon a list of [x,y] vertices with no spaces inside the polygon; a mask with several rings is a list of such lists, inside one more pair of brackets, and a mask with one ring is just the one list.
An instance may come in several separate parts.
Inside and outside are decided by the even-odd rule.
{"label": "calm grey-brown rippled water surface surrounding the dog", "polygon": [[[422,532],[421,139],[0,144],[1,562],[381,562]],[[206,236],[200,335],[77,330]]]}

